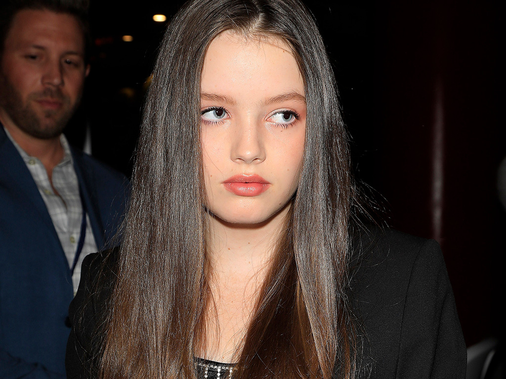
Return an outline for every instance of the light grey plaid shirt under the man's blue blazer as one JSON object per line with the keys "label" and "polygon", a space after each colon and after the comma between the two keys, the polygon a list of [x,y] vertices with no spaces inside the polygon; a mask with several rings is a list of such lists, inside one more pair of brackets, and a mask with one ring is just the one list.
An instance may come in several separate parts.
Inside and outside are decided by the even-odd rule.
{"label": "light grey plaid shirt under the man's blue blazer", "polygon": [[[81,229],[82,206],[79,196],[79,182],[75,174],[68,141],[63,134],[60,136],[60,143],[63,147],[64,156],[61,162],[53,169],[53,186],[51,186],[48,173],[42,162],[40,162],[38,158],[30,157],[26,154],[12,138],[7,129],[5,129],[5,132],[23,158],[28,171],[30,171],[37,185],[40,196],[42,196],[44,203],[46,203],[49,215],[53,220],[53,225],[60,239],[65,256],[67,257],[68,265],[72,267]],[[53,191],[53,187],[56,189],[56,193]],[[82,247],[77,264],[75,265],[74,273],[72,274],[74,295],[79,285],[82,260],[86,255],[95,253],[96,251],[97,245],[93,236],[90,217],[86,215],[85,243]]]}

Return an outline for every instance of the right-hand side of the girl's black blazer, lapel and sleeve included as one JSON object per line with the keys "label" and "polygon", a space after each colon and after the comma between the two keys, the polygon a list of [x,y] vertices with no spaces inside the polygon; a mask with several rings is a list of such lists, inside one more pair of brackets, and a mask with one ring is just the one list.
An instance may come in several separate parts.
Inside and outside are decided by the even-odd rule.
{"label": "right-hand side of the girl's black blazer, lapel and sleeve included", "polygon": [[359,378],[465,379],[467,352],[439,244],[386,230],[353,278]]}

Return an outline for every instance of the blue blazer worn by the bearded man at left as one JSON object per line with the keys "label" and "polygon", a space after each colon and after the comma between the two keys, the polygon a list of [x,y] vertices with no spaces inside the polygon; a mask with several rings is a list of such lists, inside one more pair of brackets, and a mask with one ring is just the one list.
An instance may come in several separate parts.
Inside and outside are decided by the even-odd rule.
{"label": "blue blazer worn by the bearded man at left", "polygon": [[[126,178],[72,150],[99,249],[124,213]],[[64,377],[70,268],[46,204],[0,124],[0,378]]]}

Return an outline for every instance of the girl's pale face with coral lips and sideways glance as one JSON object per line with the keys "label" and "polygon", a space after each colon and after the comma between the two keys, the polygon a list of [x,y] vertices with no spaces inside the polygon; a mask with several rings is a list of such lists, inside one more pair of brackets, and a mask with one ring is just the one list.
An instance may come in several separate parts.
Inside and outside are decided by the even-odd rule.
{"label": "girl's pale face with coral lips and sideways glance", "polygon": [[200,97],[207,209],[230,223],[268,221],[295,193],[304,153],[304,83],[288,45],[220,34]]}

